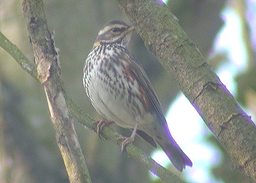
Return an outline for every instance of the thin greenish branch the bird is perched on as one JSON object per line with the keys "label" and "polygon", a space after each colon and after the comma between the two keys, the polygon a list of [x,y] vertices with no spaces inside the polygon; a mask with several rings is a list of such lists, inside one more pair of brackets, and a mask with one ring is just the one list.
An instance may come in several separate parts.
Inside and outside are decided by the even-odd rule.
{"label": "thin greenish branch the bird is perched on", "polygon": [[[1,32],[0,32],[0,45],[9,53],[14,59],[17,61],[17,63],[26,71],[30,76],[33,76],[37,81],[39,81],[39,78],[37,77],[37,69],[34,63],[29,61],[26,56],[16,47],[16,45],[12,44]],[[58,81],[60,83],[60,81]],[[66,105],[68,107],[68,115],[70,119],[77,120],[77,122],[83,124],[83,126],[93,130],[94,132],[97,132],[96,126],[92,126],[93,120],[92,117],[87,115],[83,110],[79,109],[77,105],[74,104],[74,102],[68,98],[63,90],[64,99],[66,100]],[[102,136],[106,138],[107,140],[110,140],[117,144],[118,139],[121,137],[121,134],[118,134],[111,130],[108,127],[105,127],[102,130]],[[77,141],[78,142],[78,141]],[[119,147],[121,147],[121,142],[119,142]],[[177,176],[174,174],[171,174],[167,169],[156,163],[153,159],[148,157],[146,153],[144,153],[142,150],[140,150],[138,147],[135,147],[134,145],[128,145],[126,148],[127,157],[131,157],[135,161],[140,161],[142,164],[144,164],[153,174],[161,178],[161,180],[165,182],[177,182],[182,183],[183,181],[180,180]],[[82,169],[83,170],[83,169]]]}

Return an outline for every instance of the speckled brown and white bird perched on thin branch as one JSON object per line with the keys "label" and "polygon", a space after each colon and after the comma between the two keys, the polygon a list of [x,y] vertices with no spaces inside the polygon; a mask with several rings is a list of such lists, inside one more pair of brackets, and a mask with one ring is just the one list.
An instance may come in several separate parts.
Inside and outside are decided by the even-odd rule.
{"label": "speckled brown and white bird perched on thin branch", "polygon": [[150,80],[127,48],[133,30],[122,20],[107,22],[85,60],[85,92],[95,110],[106,119],[96,122],[98,134],[112,123],[129,128],[132,134],[123,138],[122,151],[138,134],[153,147],[160,146],[182,172],[186,165],[192,167],[192,161],[171,136]]}

